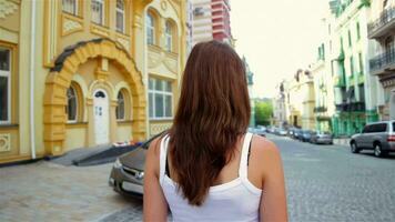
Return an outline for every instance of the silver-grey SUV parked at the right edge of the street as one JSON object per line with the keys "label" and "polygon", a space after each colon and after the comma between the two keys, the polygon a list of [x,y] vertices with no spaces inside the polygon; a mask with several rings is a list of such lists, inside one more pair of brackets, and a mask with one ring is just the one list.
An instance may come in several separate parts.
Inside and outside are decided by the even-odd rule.
{"label": "silver-grey SUV parked at the right edge of the street", "polygon": [[395,152],[395,120],[369,123],[350,140],[351,152],[374,150],[374,155],[384,157]]}

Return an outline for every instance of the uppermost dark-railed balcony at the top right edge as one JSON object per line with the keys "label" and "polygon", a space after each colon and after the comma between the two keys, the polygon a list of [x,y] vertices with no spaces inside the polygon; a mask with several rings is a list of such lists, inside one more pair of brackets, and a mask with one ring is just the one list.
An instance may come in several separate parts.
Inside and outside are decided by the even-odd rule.
{"label": "uppermost dark-railed balcony at the top right edge", "polygon": [[378,39],[395,29],[395,8],[383,10],[379,18],[367,26],[367,37]]}

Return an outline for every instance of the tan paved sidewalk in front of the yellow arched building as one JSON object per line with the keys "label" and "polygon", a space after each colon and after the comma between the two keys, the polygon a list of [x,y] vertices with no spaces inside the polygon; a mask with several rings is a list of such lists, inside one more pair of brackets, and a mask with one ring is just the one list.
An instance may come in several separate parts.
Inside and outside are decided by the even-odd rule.
{"label": "tan paved sidewalk in front of the yellow arched building", "polygon": [[98,221],[141,201],[108,185],[112,164],[64,167],[48,161],[0,168],[0,221]]}

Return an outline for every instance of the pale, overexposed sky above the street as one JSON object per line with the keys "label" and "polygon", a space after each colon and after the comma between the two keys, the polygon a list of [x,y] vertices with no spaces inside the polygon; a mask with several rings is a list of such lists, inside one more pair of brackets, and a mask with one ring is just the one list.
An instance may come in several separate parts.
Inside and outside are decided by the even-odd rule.
{"label": "pale, overexposed sky above the street", "polygon": [[255,98],[271,98],[275,85],[315,61],[328,0],[231,0],[236,51],[254,73]]}

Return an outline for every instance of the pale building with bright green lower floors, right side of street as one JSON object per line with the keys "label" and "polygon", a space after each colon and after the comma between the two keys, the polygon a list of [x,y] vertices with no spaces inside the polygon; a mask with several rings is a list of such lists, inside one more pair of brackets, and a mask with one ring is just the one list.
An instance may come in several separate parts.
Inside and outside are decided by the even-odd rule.
{"label": "pale building with bright green lower floors, right side of street", "polygon": [[330,2],[334,17],[332,48],[336,113],[335,135],[352,135],[367,122],[378,120],[378,79],[369,74],[368,1]]}

